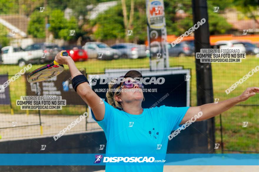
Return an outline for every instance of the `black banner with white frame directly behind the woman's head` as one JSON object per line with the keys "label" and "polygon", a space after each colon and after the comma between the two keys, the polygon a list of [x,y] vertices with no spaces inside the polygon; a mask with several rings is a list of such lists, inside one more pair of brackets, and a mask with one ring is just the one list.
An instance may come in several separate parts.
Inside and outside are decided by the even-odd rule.
{"label": "black banner with white frame directly behind the woman's head", "polygon": [[[155,106],[160,107],[162,105],[172,107],[190,106],[190,79],[186,79],[186,76],[190,76],[189,69],[167,70],[159,72],[141,71],[141,74],[145,78],[155,77],[155,79],[165,79],[163,84],[145,84],[145,88],[142,90],[145,91],[143,93],[145,101],[142,102],[142,108],[154,108]],[[100,98],[103,98],[104,101],[107,102],[106,91],[108,89],[108,84],[100,84],[101,78],[113,78],[123,75],[124,72],[89,75],[90,82],[93,81],[93,77],[97,79],[96,82],[92,82],[95,84],[90,84],[90,87]],[[149,81],[150,80],[147,82]],[[87,122],[95,122],[92,118],[92,112],[90,108]]]}

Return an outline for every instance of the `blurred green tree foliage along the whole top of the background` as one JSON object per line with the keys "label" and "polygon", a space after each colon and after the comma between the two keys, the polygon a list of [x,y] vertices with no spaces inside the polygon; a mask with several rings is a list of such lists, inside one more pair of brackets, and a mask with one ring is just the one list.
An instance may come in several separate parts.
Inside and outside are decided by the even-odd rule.
{"label": "blurred green tree foliage along the whole top of the background", "polygon": [[[92,35],[95,40],[125,39],[125,23],[121,1],[117,6],[110,7],[107,11],[100,12],[95,19],[83,17],[79,22],[79,16],[87,16],[86,6],[92,4],[93,8],[100,2],[111,0],[47,0],[47,6],[43,13],[39,13],[39,7],[44,6],[44,0],[11,0],[0,1],[0,14],[23,13],[30,17],[28,33],[36,38],[45,37],[45,16],[50,24],[49,31],[54,38],[71,40],[82,35]],[[20,5],[22,3],[22,5]],[[130,14],[130,1],[126,1],[127,16]],[[164,0],[165,18],[168,35],[181,35],[191,26],[192,1],[191,0]],[[214,6],[219,6],[220,11],[226,8],[236,8],[249,18],[256,20],[258,16],[254,13],[258,9],[259,1],[254,0],[207,0],[210,34],[224,34],[231,30],[231,25],[219,13],[213,13]],[[64,10],[71,8],[73,16],[68,21],[64,18]],[[11,9],[11,10],[10,10]],[[185,15],[177,15],[184,13]],[[81,23],[80,25],[78,23]],[[146,5],[143,0],[134,1],[134,17],[131,28],[132,36],[127,37],[129,41],[147,39]],[[68,36],[69,30],[76,30],[76,37]]]}

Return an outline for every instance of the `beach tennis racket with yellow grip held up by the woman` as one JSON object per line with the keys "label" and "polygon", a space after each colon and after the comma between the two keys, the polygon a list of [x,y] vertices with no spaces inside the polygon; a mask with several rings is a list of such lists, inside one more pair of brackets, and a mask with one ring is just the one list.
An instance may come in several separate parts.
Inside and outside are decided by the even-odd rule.
{"label": "beach tennis racket with yellow grip held up by the woman", "polygon": [[[62,52],[62,56],[68,56],[67,52]],[[54,76],[59,75],[64,71],[64,66],[62,64],[58,64],[55,60],[43,67],[40,67],[27,76],[28,82],[41,82],[46,81],[48,79],[52,79]]]}

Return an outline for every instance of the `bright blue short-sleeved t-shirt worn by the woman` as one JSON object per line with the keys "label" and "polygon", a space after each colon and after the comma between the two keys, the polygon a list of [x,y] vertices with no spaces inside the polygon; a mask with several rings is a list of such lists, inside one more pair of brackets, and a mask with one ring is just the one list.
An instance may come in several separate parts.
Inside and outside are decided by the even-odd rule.
{"label": "bright blue short-sleeved t-shirt worn by the woman", "polygon": [[[97,121],[104,130],[107,154],[164,154],[168,135],[176,130],[189,107],[160,107],[144,109],[140,115],[132,115],[116,109],[104,101],[104,119]],[[162,144],[160,149],[158,144]],[[110,163],[112,164],[112,163]],[[163,165],[122,166],[106,164],[106,172],[162,172]]]}

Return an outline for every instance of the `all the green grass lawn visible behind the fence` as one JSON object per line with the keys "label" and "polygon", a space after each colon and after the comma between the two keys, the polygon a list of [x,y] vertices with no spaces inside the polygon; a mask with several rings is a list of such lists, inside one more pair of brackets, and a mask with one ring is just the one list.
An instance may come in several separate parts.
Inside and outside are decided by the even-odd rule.
{"label": "all the green grass lawn visible behind the fence", "polygon": [[[196,101],[196,71],[194,57],[170,57],[170,66],[183,66],[191,69],[191,105],[195,106]],[[259,64],[259,58],[255,56],[247,56],[242,60],[242,63],[212,63],[212,81],[214,98],[219,98],[223,101],[240,95],[247,87],[259,86],[259,72],[254,73],[249,79],[238,85],[230,94],[226,94],[225,90],[233,85],[236,81],[242,78],[249,71],[254,69]],[[149,59],[118,59],[111,61],[88,60],[86,62],[76,62],[78,69],[86,68],[87,73],[104,73],[105,68],[146,68],[149,67]],[[34,64],[30,71],[40,67],[41,65]],[[8,72],[9,75],[14,75],[22,68],[17,65],[0,65],[0,74]],[[65,66],[65,69],[68,69]],[[11,77],[10,76],[10,77]],[[10,78],[9,77],[9,78]],[[20,77],[15,82],[10,84],[11,102],[14,108],[14,113],[25,113],[25,110],[20,110],[16,107],[16,99],[26,95],[25,77]],[[253,96],[248,101],[241,104],[259,104],[259,95]],[[61,111],[41,111],[42,114],[60,113],[67,115],[82,114],[85,111],[84,106],[63,107]],[[10,113],[10,108],[7,105],[0,105],[0,112]],[[37,111],[29,111],[37,113]],[[223,123],[223,141],[224,149],[230,150],[249,150],[259,151],[258,147],[258,106],[235,106],[222,114]],[[248,128],[242,128],[242,122],[248,121]],[[216,123],[216,143],[220,143],[220,122],[219,116],[215,117]],[[218,150],[219,151],[219,150]]]}

